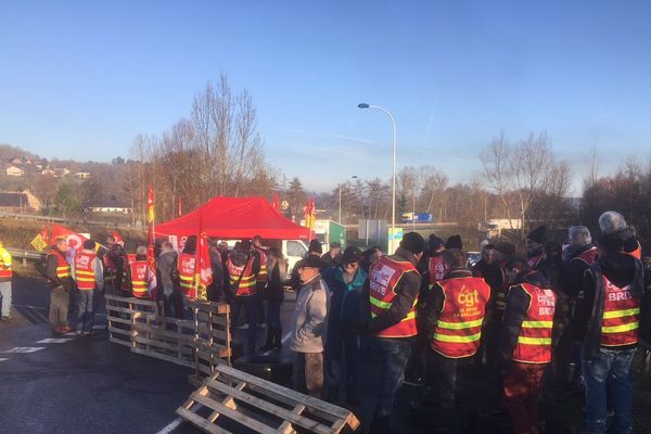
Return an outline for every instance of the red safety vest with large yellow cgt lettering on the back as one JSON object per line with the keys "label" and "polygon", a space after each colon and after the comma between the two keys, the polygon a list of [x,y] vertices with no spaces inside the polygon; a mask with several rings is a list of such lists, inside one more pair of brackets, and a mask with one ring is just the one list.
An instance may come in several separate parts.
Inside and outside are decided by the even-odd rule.
{"label": "red safety vest with large yellow cgt lettering on the back", "polygon": [[444,279],[443,309],[432,336],[432,348],[449,358],[477,352],[490,286],[482,278]]}

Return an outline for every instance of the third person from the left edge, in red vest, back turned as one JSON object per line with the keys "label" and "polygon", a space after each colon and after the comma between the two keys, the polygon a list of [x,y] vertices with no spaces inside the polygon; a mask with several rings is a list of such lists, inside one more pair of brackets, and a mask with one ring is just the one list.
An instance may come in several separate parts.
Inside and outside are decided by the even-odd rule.
{"label": "third person from the left edge, in red vest, back turned", "polygon": [[79,291],[77,334],[92,334],[94,312],[98,305],[99,292],[104,289],[102,277],[102,263],[95,254],[95,243],[92,240],[84,241],[81,252],[75,256],[73,276]]}

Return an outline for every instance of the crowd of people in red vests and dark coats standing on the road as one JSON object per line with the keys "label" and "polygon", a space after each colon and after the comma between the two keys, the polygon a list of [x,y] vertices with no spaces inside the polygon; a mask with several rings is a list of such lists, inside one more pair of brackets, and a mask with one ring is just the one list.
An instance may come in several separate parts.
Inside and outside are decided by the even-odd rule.
{"label": "crowd of people in red vests and dark coats standing on the road", "polygon": [[[513,432],[535,434],[540,395],[585,393],[584,432],[631,433],[630,366],[638,344],[651,342],[649,280],[634,228],[616,212],[599,218],[597,242],[587,227],[569,230],[566,242],[548,240],[544,226],[526,238],[525,255],[505,241],[483,244],[469,264],[459,235],[447,241],[406,233],[385,256],[317,240],[288,276],[288,261],[259,237],[232,250],[209,240],[213,282],[207,299],[231,305],[231,324],[246,329],[248,353],[282,348],[285,284],[296,293],[288,343],[294,385],[310,396],[358,407],[360,366],[379,363],[371,433],[391,432],[390,417],[404,382],[421,386],[419,406],[437,414],[438,432],[462,431],[463,378],[482,372],[482,391],[494,410],[506,409]],[[47,256],[50,321],[68,333],[75,296],[76,332],[92,333],[103,292],[159,301],[166,316],[188,318],[197,297],[196,238],[180,252],[162,243],[155,273],[148,250],[127,255],[110,235],[98,251],[86,241],[71,254],[58,239]],[[0,242],[2,319],[11,281],[11,256]],[[9,283],[9,303],[11,284]],[[240,324],[240,317],[244,321]],[[261,328],[260,323],[264,323]],[[266,342],[257,346],[258,330]]]}

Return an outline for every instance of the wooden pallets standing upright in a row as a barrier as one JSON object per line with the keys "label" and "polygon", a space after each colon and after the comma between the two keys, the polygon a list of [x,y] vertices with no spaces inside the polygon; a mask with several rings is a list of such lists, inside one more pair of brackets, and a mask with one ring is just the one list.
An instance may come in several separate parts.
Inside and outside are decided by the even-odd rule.
{"label": "wooden pallets standing upright in a row as a barrier", "polygon": [[188,301],[194,320],[168,318],[156,302],[106,294],[108,341],[132,353],[194,369],[201,383],[218,365],[231,363],[230,308],[226,304]]}

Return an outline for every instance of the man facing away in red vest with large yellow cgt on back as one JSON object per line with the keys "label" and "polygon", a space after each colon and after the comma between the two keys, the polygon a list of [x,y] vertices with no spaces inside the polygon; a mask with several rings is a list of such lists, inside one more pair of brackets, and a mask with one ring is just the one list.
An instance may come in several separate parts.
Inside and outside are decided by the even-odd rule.
{"label": "man facing away in red vest with large yellow cgt on back", "polygon": [[468,269],[468,258],[460,248],[443,254],[444,278],[436,281],[419,310],[422,333],[432,348],[430,370],[445,432],[458,433],[456,396],[462,376],[472,365],[480,347],[482,326],[490,297],[490,286]]}

